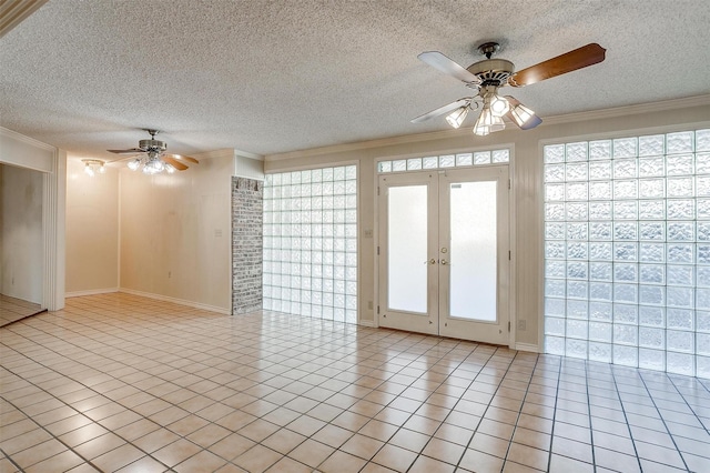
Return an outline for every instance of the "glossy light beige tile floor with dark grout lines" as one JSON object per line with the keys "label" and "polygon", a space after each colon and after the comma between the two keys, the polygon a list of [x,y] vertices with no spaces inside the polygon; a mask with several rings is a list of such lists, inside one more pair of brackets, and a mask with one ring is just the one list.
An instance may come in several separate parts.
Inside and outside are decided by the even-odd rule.
{"label": "glossy light beige tile floor with dark grout lines", "polygon": [[710,472],[707,380],[120,293],[0,350],[0,472]]}

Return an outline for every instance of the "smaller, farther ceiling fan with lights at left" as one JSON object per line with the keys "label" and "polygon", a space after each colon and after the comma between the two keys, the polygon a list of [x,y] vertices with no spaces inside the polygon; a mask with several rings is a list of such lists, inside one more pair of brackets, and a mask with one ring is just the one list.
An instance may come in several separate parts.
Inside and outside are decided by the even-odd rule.
{"label": "smaller, farther ceiling fan with lights at left", "polygon": [[[160,172],[173,173],[175,171],[184,171],[187,169],[186,162],[199,164],[194,158],[185,157],[181,154],[166,153],[168,143],[155,139],[155,135],[160,133],[158,130],[143,129],[151,135],[150,140],[141,140],[138,142],[138,148],[130,148],[128,150],[108,150],[116,154],[138,154],[131,157],[129,161],[129,169],[138,171],[142,169],[146,174],[158,174]],[[129,159],[129,158],[124,158]]]}

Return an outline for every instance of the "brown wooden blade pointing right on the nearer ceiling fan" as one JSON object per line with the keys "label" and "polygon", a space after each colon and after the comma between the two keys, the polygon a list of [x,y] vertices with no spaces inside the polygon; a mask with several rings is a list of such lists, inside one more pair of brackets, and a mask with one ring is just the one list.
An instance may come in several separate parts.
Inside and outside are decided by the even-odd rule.
{"label": "brown wooden blade pointing right on the nearer ceiling fan", "polygon": [[605,60],[606,51],[606,49],[597,43],[582,46],[574,51],[566,52],[514,73],[508,78],[508,84],[513,87],[529,85],[597,64]]}

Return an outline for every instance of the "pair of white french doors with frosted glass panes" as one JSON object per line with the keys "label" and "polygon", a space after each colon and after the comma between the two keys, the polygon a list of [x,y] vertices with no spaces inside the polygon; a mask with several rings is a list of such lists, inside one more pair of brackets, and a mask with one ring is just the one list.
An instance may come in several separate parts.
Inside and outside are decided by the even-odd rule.
{"label": "pair of white french doors with frosted glass panes", "polygon": [[381,175],[379,325],[508,344],[508,167]]}

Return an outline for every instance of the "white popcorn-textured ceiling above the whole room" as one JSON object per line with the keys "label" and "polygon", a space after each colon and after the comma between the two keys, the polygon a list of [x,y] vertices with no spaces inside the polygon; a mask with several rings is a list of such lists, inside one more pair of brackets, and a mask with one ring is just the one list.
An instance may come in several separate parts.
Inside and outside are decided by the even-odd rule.
{"label": "white popcorn-textured ceiling above the whole room", "polygon": [[0,40],[0,124],[79,157],[141,128],[173,152],[281,153],[446,129],[409,120],[468,89],[422,51],[467,67],[496,40],[523,69],[605,47],[513,91],[545,119],[710,92],[708,24],[707,0],[50,0]]}

